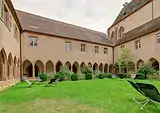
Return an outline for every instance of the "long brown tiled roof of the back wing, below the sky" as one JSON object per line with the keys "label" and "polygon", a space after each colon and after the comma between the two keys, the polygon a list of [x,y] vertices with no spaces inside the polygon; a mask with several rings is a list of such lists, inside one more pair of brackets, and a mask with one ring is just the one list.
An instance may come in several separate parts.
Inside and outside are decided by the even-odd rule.
{"label": "long brown tiled roof of the back wing, below the sky", "polygon": [[60,38],[86,41],[90,43],[112,46],[105,33],[89,30],[75,25],[48,19],[42,16],[17,10],[23,31],[31,31]]}

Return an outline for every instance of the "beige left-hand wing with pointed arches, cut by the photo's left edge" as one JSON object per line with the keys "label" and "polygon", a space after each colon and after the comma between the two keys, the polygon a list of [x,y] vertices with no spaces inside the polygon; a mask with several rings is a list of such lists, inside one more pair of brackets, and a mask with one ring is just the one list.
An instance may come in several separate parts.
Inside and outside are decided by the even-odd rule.
{"label": "beige left-hand wing with pointed arches, cut by the photo's left edge", "polygon": [[0,81],[20,79],[20,30],[9,0],[0,0]]}

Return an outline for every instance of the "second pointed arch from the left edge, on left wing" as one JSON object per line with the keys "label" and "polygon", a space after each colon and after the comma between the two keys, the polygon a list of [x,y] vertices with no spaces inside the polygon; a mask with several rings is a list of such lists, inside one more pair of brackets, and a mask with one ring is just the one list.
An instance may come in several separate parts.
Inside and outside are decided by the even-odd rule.
{"label": "second pointed arch from the left edge, on left wing", "polygon": [[11,53],[8,55],[8,78],[13,78],[13,57]]}

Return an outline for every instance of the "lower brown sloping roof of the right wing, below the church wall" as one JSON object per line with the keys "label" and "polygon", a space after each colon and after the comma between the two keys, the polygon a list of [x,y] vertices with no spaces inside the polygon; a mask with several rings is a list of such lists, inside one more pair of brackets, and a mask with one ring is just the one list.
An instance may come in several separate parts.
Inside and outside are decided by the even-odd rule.
{"label": "lower brown sloping roof of the right wing, below the church wall", "polygon": [[160,17],[151,20],[150,22],[141,25],[127,33],[125,33],[124,37],[117,40],[116,46],[123,44],[125,42],[131,41],[133,39],[136,39],[138,37],[142,37],[144,35],[147,35],[149,33],[155,32],[160,29]]}

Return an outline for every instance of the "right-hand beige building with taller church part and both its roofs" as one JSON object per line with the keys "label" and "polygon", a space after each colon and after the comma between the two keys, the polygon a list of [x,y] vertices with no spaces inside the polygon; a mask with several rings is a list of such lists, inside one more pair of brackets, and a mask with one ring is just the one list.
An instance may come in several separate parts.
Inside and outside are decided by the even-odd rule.
{"label": "right-hand beige building with taller church part and both its roofs", "polygon": [[134,70],[148,61],[159,70],[159,5],[159,0],[132,0],[124,4],[124,8],[108,29],[109,38],[115,43],[115,64],[121,49],[129,48],[134,56],[131,62]]}

